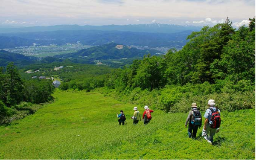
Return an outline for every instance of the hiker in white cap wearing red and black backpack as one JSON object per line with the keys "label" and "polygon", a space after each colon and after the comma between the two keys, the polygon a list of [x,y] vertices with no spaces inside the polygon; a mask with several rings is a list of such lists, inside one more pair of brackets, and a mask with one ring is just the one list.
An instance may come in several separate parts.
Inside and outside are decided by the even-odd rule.
{"label": "hiker in white cap wearing red and black backpack", "polygon": [[208,101],[209,108],[205,111],[204,117],[204,128],[202,136],[207,140],[208,143],[213,143],[213,136],[218,133],[221,125],[221,111],[215,107],[215,101],[210,99]]}

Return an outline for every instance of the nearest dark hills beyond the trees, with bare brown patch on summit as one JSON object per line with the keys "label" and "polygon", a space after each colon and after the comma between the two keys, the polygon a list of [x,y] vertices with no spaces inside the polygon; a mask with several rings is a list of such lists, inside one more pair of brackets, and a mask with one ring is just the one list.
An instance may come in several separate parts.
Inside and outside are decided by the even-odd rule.
{"label": "nearest dark hills beyond the trees, with bare brown patch on summit", "polygon": [[94,60],[136,58],[147,54],[158,55],[163,52],[152,49],[136,49],[125,45],[109,43],[102,46],[81,49],[75,53],[55,55],[54,57],[36,58],[25,55],[0,50],[0,67],[6,66],[9,62],[14,62],[17,66],[26,66],[35,63],[61,62],[68,59],[74,63],[95,64]]}

